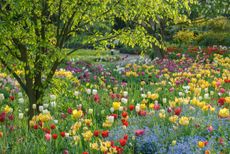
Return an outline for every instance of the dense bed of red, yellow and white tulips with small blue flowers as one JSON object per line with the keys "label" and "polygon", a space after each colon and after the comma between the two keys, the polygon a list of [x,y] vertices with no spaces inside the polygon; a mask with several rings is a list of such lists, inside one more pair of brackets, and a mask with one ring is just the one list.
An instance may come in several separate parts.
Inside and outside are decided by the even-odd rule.
{"label": "dense bed of red, yellow and white tulips with small blue flowers", "polygon": [[117,66],[68,62],[29,121],[28,99],[1,73],[0,151],[229,153],[229,58],[207,50],[212,61],[181,54]]}

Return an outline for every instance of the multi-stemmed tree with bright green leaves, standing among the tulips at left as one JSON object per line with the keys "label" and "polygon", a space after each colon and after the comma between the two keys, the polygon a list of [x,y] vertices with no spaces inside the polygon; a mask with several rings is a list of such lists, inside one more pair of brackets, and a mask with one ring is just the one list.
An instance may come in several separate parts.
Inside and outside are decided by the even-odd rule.
{"label": "multi-stemmed tree with bright green leaves, standing among the tulips at left", "polygon": [[[105,47],[115,39],[130,46],[161,46],[148,32],[151,22],[165,13],[176,22],[181,18],[177,7],[189,10],[187,0],[2,0],[0,6],[0,62],[28,96],[30,118],[32,105],[42,104],[45,89],[68,55],[86,45]],[[108,31],[96,28],[113,26],[115,18],[138,24]],[[82,34],[87,35],[78,46],[64,49]]]}

